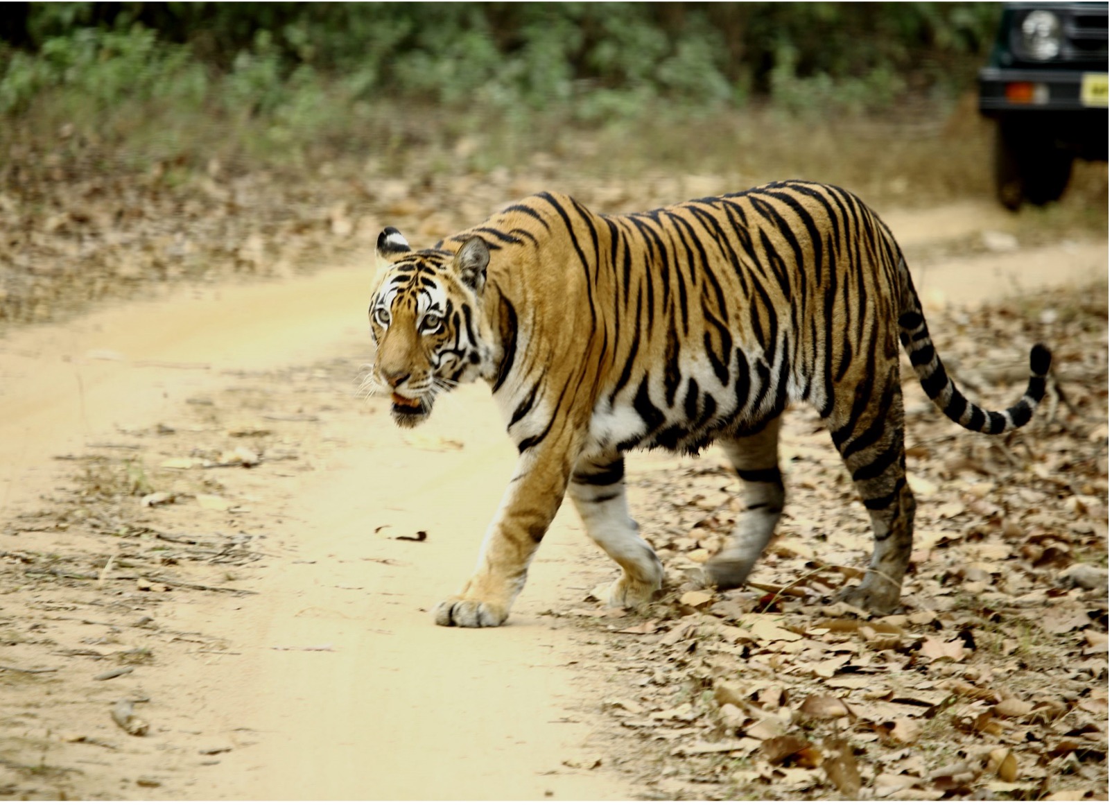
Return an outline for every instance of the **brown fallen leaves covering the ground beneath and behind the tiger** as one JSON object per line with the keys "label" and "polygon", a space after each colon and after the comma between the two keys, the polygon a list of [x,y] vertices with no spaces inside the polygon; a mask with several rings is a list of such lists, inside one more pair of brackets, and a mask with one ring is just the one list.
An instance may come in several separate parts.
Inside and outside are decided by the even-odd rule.
{"label": "brown fallen leaves covering the ground beneath and behind the tiger", "polygon": [[[790,501],[741,590],[708,589],[699,570],[738,515],[722,459],[628,463],[665,590],[616,620],[564,615],[622,658],[603,710],[641,756],[610,763],[644,797],[1106,799],[1106,297],[1082,288],[932,315],[960,381],[1023,366],[1034,340],[1074,379],[1003,438],[957,431],[907,381],[920,506],[894,615],[831,603],[860,579],[872,538],[808,411],[785,418]],[[1021,379],[976,378],[975,391],[1007,405]]]}

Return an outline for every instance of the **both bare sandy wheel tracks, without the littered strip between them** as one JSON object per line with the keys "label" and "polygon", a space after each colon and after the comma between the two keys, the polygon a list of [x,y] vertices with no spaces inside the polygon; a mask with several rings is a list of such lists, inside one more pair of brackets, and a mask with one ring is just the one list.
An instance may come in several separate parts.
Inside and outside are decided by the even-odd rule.
{"label": "both bare sandy wheel tracks, without the littered strip between them", "polygon": [[[890,220],[916,242],[991,226],[965,206]],[[1078,281],[1106,267],[1106,242],[1090,242],[916,267],[915,276],[924,298],[975,302],[1001,282]],[[170,417],[227,385],[225,370],[358,355],[366,284],[363,269],[332,270],[11,334],[0,341],[0,504],[16,510],[49,489],[51,455]],[[592,586],[585,564],[588,576],[606,567],[567,510],[508,628],[436,628],[427,612],[470,569],[510,471],[513,449],[488,395],[461,389],[420,431],[461,441],[459,451],[415,449],[385,416],[335,427],[349,446],[288,503],[276,535],[282,549],[251,580],[262,595],[234,604],[214,596],[188,615],[237,654],[167,673],[200,692],[182,706],[226,731],[237,751],[193,787],[159,796],[629,796],[610,769],[563,765],[589,755],[597,702],[583,647],[542,613],[573,606]],[[388,539],[375,534],[383,525],[429,539]],[[275,650],[321,646],[331,650]],[[250,741],[236,737],[245,726]]]}

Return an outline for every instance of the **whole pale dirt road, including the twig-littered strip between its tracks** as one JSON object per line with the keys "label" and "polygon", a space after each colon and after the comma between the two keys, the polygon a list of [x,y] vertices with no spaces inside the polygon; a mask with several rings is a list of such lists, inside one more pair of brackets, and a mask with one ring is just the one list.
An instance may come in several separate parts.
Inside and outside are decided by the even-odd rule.
{"label": "whole pale dirt road, including the twig-littered strip between its tracks", "polygon": [[[886,218],[922,258],[913,262],[929,305],[1106,276],[1106,242],[1020,249],[985,237],[1009,223],[989,205]],[[982,239],[991,248],[969,247]],[[321,370],[298,369],[332,361],[336,376],[354,379],[368,280],[357,267],[206,288],[0,342],[6,520],[70,483],[71,467],[54,456],[127,448],[160,467],[252,434],[296,454],[288,465],[270,460],[278,441],[268,441],[267,460],[251,469],[216,461],[206,480],[188,465],[160,470],[195,473],[197,491],[140,513],[163,536],[256,535],[252,546],[265,541],[257,560],[225,576],[211,564],[188,573],[178,559],[167,565],[195,586],[254,595],[159,589],[141,568],[137,580],[113,567],[129,548],[113,548],[110,531],[96,536],[109,556],[95,588],[4,590],[2,625],[20,636],[3,643],[0,665],[32,670],[26,664],[48,654],[66,658],[50,656],[50,673],[10,675],[16,684],[0,709],[13,715],[0,723],[0,748],[19,765],[9,764],[0,791],[171,799],[634,795],[619,769],[595,767],[609,738],[592,693],[593,647],[545,614],[577,606],[612,573],[568,509],[506,628],[433,626],[429,609],[467,576],[513,466],[485,389],[460,389],[423,429],[403,434],[381,405],[337,402]],[[210,498],[211,508],[200,505]],[[404,538],[421,531],[421,541]],[[0,550],[10,561],[20,551],[68,556],[92,539],[13,521]],[[156,632],[129,625],[140,613]],[[50,643],[23,639],[36,629]],[[80,646],[99,647],[102,659],[109,644],[150,649],[155,662],[93,682],[106,664]],[[147,738],[109,722],[120,697],[150,722]],[[26,772],[36,763],[38,776]]]}

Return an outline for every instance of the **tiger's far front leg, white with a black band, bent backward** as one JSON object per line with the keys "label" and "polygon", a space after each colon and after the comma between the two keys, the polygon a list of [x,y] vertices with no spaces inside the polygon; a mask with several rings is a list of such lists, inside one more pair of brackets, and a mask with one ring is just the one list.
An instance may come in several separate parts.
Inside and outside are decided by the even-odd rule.
{"label": "tiger's far front leg, white with a black band, bent backward", "polygon": [[664,567],[652,546],[637,535],[629,519],[625,494],[625,461],[580,458],[572,473],[568,493],[583,525],[598,547],[622,566],[622,576],[599,592],[612,607],[636,607],[659,589]]}

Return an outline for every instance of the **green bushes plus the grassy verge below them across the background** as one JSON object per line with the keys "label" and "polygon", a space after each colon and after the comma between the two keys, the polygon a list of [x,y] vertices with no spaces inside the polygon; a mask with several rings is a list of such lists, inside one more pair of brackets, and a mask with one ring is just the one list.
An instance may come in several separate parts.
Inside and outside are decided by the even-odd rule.
{"label": "green bushes plus the grassy verge below them across the background", "polygon": [[810,116],[884,110],[912,89],[952,98],[999,14],[964,2],[27,9],[22,28],[0,23],[0,140],[17,125],[72,123],[141,141],[137,159],[202,165],[206,149],[296,160],[317,147],[450,149],[473,132],[553,140],[539,129],[564,123],[666,128],[754,100]]}

